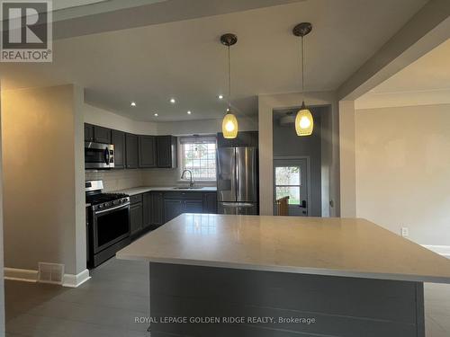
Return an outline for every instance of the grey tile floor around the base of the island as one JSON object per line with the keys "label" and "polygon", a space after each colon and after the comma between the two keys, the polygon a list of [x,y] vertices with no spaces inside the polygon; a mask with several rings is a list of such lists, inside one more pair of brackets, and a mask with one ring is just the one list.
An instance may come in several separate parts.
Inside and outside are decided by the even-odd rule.
{"label": "grey tile floor around the base of the island", "polygon": [[[78,288],[5,281],[6,336],[148,337],[148,263],[112,259]],[[425,285],[427,337],[450,336],[450,285]]]}

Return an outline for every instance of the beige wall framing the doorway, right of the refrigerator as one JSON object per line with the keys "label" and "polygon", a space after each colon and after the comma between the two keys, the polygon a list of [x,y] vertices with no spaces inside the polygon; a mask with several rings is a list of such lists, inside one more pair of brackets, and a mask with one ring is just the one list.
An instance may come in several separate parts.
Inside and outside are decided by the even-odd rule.
{"label": "beige wall framing the doorway, right of the refrigerator", "polygon": [[[272,215],[274,205],[274,146],[273,146],[273,111],[298,107],[301,93],[280,93],[259,95],[258,130],[259,130],[259,204],[261,215]],[[329,174],[328,191],[322,190],[322,198],[327,198],[333,206],[322,208],[322,214],[330,217],[339,215],[339,139],[338,139],[338,101],[335,93],[305,93],[305,102],[311,106],[331,106],[330,120],[325,121],[329,132],[322,133],[322,173]],[[326,166],[327,165],[327,166]]]}

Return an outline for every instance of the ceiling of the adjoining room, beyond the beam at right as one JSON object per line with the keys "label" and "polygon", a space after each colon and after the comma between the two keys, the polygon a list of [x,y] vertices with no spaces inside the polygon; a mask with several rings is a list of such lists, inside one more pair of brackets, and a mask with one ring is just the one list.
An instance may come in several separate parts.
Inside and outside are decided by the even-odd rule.
{"label": "ceiling of the adjoining room, beyond the beam at right", "polygon": [[450,102],[450,39],[356,100],[358,109]]}

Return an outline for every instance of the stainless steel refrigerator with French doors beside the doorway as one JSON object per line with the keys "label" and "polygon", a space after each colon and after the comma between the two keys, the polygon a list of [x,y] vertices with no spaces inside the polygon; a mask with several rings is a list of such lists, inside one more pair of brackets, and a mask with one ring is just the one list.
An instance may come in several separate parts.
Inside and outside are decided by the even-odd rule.
{"label": "stainless steel refrigerator with French doors beside the doorway", "polygon": [[258,214],[257,148],[220,147],[217,150],[219,214]]}

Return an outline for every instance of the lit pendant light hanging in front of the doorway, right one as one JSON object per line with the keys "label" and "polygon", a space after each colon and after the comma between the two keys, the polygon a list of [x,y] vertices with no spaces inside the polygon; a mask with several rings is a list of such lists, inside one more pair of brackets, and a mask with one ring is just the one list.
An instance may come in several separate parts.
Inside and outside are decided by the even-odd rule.
{"label": "lit pendant light hanging in front of the doorway, right one", "polygon": [[295,131],[297,136],[311,136],[312,129],[314,129],[314,120],[312,118],[311,111],[306,108],[304,101],[304,91],[305,91],[305,80],[304,80],[304,48],[303,48],[303,38],[312,31],[312,25],[310,22],[302,22],[297,24],[293,28],[293,35],[300,36],[301,40],[301,57],[302,57],[302,107],[297,112],[295,117]]}

